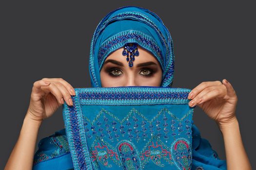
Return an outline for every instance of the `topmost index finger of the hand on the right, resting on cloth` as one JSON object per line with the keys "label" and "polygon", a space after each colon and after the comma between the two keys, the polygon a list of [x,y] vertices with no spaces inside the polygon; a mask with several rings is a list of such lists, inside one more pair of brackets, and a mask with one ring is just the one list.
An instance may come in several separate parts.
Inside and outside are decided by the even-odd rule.
{"label": "topmost index finger of the hand on the right, resting on cloth", "polygon": [[188,99],[194,99],[203,89],[213,85],[221,85],[220,81],[202,82],[192,89],[188,95]]}

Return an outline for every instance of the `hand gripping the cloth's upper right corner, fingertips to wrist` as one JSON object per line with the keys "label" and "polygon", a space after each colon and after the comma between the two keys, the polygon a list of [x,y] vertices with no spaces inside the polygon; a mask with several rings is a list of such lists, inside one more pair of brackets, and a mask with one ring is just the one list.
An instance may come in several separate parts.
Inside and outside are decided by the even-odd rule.
{"label": "hand gripping the cloth's upper right corner, fingertips to wrist", "polygon": [[189,102],[190,107],[198,105],[219,125],[229,124],[236,119],[236,92],[226,79],[222,83],[202,82],[188,96],[188,99],[193,99]]}

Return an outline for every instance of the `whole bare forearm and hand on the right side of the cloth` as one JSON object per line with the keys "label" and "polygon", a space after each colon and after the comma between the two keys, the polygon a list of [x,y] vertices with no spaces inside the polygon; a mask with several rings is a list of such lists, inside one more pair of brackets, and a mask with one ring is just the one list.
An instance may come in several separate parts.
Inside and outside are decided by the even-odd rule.
{"label": "whole bare forearm and hand on the right side of the cloth", "polygon": [[223,135],[228,170],[251,170],[236,119],[237,95],[226,80],[202,82],[191,90],[191,107],[198,105],[214,119]]}

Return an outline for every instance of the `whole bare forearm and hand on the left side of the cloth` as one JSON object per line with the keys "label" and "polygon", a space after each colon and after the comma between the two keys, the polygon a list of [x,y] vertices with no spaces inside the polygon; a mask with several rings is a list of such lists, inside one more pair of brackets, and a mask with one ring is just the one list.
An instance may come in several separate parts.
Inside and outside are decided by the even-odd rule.
{"label": "whole bare forearm and hand on the left side of the cloth", "polygon": [[52,116],[64,104],[64,100],[68,105],[73,105],[71,95],[76,95],[75,89],[62,78],[43,78],[34,83],[20,136],[5,170],[32,169],[41,122]]}

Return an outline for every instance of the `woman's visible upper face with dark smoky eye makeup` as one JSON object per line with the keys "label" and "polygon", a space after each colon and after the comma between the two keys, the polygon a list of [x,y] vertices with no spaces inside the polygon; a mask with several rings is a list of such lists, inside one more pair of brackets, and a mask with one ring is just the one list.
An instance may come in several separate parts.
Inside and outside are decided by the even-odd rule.
{"label": "woman's visible upper face with dark smoky eye makeup", "polygon": [[102,87],[115,86],[160,86],[161,66],[149,51],[138,46],[139,56],[135,56],[133,67],[129,67],[123,48],[113,51],[100,70]]}

